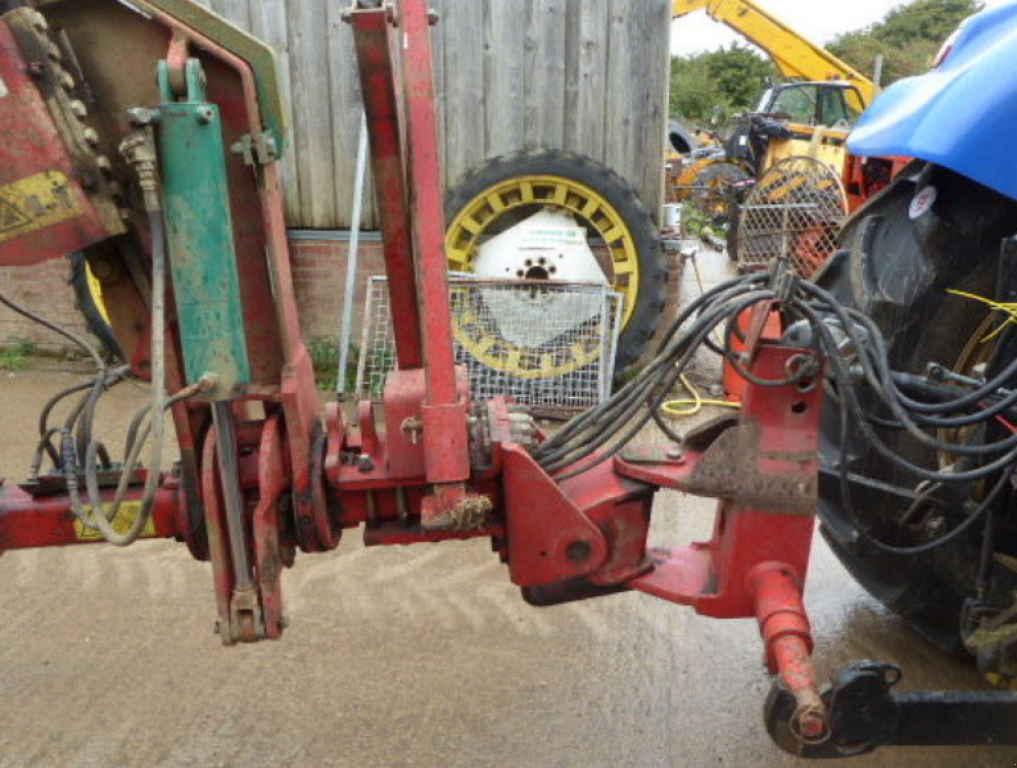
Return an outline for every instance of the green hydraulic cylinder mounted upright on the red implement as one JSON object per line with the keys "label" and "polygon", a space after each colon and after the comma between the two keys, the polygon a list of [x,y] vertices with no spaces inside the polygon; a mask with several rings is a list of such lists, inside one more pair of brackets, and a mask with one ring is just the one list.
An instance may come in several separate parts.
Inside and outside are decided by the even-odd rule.
{"label": "green hydraulic cylinder mounted upright on the red implement", "polygon": [[226,145],[219,107],[205,101],[196,59],[185,69],[187,97],[177,101],[167,62],[159,65],[158,138],[163,210],[177,320],[188,383],[205,376],[205,398],[228,399],[250,382]]}

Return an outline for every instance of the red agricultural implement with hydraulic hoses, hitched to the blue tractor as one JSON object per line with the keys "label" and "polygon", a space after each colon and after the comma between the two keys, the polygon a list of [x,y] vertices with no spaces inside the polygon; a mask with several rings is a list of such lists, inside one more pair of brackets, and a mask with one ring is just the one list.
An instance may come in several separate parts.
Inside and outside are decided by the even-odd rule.
{"label": "red agricultural implement with hydraulic hoses, hitched to the blue tractor", "polygon": [[[833,294],[780,262],[711,291],[639,376],[553,436],[505,398],[473,402],[452,347],[429,42],[438,19],[424,0],[359,0],[347,20],[398,369],[380,407],[322,411],[290,273],[270,50],[186,0],[0,0],[0,263],[83,250],[129,361],[111,366],[93,351],[95,378],[47,407],[27,475],[0,487],[0,551],[180,541],[211,562],[218,633],[233,645],[282,637],[284,572],[345,531],[362,529],[368,545],[485,537],[536,605],[635,590],[755,618],[776,675],[766,724],[791,753],[1017,744],[1009,694],[897,695],[899,670],[877,662],[823,689],[817,680],[801,591],[823,485],[824,379],[844,423],[863,386],[902,424],[923,413],[887,367],[880,330]],[[797,335],[763,333],[775,310],[798,321]],[[659,405],[714,329],[727,336],[717,351],[747,379],[744,408],[682,437]],[[1002,413],[1012,398],[986,376],[960,399]],[[116,462],[94,415],[129,377],[151,380],[153,402]],[[940,412],[962,407],[953,385],[906,380]],[[51,424],[65,398],[76,399],[70,415]],[[166,412],[179,445],[171,467]],[[667,440],[631,446],[651,419]],[[996,473],[983,507],[1010,487],[1013,457],[1003,458],[965,470]],[[942,482],[945,470],[929,473]],[[709,541],[647,549],[661,489],[719,499]]]}

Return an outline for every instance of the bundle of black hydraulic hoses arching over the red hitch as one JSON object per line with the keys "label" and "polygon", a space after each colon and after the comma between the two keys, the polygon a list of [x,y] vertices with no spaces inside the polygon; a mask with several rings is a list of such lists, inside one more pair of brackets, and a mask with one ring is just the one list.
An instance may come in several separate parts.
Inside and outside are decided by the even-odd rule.
{"label": "bundle of black hydraulic hoses arching over the red hitch", "polygon": [[[781,380],[761,380],[752,375],[742,367],[741,353],[733,348],[735,337],[740,335],[739,317],[764,303],[773,303],[787,319],[800,320],[811,332],[809,347],[814,356],[789,370]],[[715,330],[723,331],[722,348],[710,341]],[[719,352],[742,375],[763,387],[794,382],[806,386],[819,372],[821,360],[826,361],[829,395],[840,411],[840,492],[846,511],[853,510],[845,460],[852,436],[862,438],[873,451],[916,481],[946,485],[990,480],[977,507],[934,541],[894,546],[879,541],[859,525],[855,535],[880,551],[921,554],[956,540],[990,514],[1010,486],[1017,466],[1017,433],[993,442],[958,442],[935,432],[985,424],[1017,405],[1017,391],[1007,389],[1017,378],[1017,360],[1005,365],[991,380],[974,382],[970,389],[930,392],[929,388],[916,386],[913,375],[891,369],[885,338],[871,318],[843,306],[832,294],[786,273],[782,267],[769,274],[729,281],[701,296],[668,329],[657,354],[636,378],[609,401],[541,444],[534,450],[534,458],[547,472],[565,479],[615,456],[651,419],[669,438],[680,440],[661,416],[660,407],[701,347]],[[844,349],[850,352],[845,355]],[[869,396],[864,406],[860,391]],[[875,415],[874,404],[869,401],[888,415]],[[903,430],[922,446],[965,460],[938,469],[919,466],[887,445],[876,427]]]}

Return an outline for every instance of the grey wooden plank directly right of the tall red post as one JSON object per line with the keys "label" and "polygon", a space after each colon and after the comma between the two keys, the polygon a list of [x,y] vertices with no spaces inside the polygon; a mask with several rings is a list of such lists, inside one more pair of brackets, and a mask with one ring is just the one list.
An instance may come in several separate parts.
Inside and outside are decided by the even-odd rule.
{"label": "grey wooden plank directly right of the tall red post", "polygon": [[445,178],[454,184],[484,159],[484,4],[443,5]]}

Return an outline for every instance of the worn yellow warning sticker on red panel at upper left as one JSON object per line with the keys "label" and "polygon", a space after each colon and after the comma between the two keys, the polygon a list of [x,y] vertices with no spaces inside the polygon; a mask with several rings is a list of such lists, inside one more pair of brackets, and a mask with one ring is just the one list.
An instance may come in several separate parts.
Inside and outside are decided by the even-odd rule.
{"label": "worn yellow warning sticker on red panel at upper left", "polygon": [[0,186],[0,243],[81,215],[67,177],[43,171]]}

